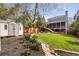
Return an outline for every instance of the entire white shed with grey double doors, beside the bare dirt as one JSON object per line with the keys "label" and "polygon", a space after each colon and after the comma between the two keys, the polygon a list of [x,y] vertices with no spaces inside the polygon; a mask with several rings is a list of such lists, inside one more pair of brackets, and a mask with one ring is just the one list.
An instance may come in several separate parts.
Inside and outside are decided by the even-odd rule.
{"label": "entire white shed with grey double doors, beside the bare dirt", "polygon": [[23,35],[23,25],[13,21],[0,20],[0,37]]}

